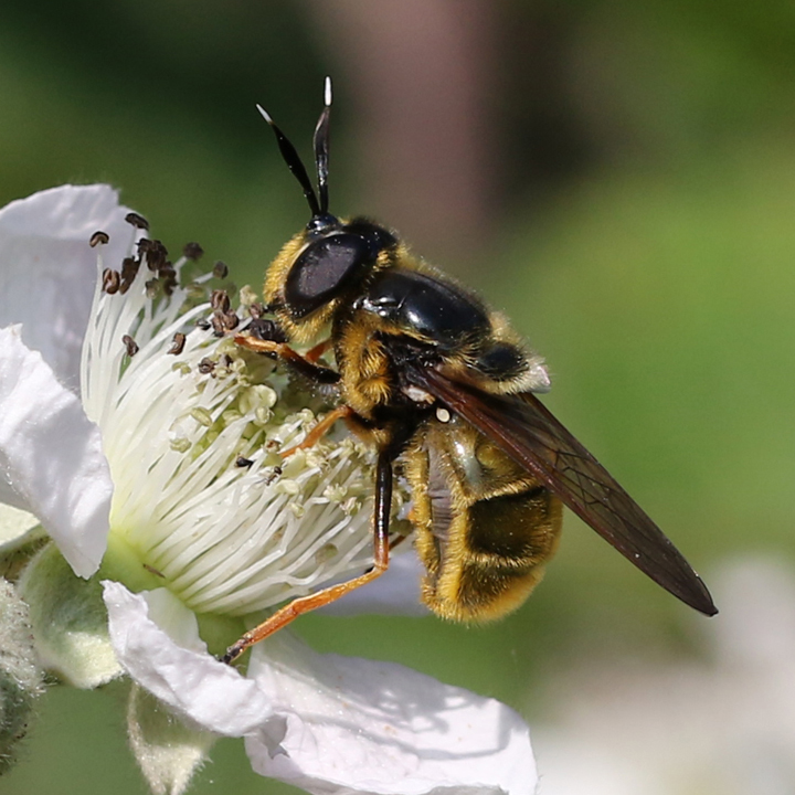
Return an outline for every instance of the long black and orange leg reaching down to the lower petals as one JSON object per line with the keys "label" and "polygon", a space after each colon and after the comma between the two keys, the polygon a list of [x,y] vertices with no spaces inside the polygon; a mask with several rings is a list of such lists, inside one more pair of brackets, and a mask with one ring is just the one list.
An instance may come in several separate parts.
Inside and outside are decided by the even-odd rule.
{"label": "long black and orange leg reaching down to the lower petals", "polygon": [[248,647],[264,640],[287,626],[294,618],[317,607],[336,602],[340,596],[367,585],[381,576],[389,568],[389,523],[392,508],[392,462],[395,454],[391,447],[379,453],[375,468],[375,511],[373,513],[373,568],[358,577],[347,582],[331,585],[309,596],[299,596],[289,604],[276,611],[259,626],[250,629],[240,640],[226,649],[221,658],[223,662],[232,662]]}

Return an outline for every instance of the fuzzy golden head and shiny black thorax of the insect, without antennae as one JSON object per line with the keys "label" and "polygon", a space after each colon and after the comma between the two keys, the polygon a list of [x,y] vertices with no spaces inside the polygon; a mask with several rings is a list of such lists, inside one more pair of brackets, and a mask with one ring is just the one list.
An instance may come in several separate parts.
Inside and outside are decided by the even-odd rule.
{"label": "fuzzy golden head and shiny black thorax of the insect, without antennae", "polygon": [[341,396],[363,420],[385,424],[427,407],[406,384],[406,365],[455,367],[465,380],[470,373],[491,384],[527,370],[521,348],[498,338],[486,305],[385,227],[327,214],[289,245],[277,259],[271,309],[288,339],[310,341],[328,327]]}

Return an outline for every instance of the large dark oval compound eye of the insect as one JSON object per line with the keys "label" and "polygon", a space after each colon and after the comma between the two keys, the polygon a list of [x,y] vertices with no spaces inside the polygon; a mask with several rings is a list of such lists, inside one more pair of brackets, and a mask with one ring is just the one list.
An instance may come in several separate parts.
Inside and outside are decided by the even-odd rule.
{"label": "large dark oval compound eye of the insect", "polygon": [[311,243],[295,261],[285,284],[285,303],[296,318],[319,309],[356,285],[374,259],[356,234],[335,234]]}

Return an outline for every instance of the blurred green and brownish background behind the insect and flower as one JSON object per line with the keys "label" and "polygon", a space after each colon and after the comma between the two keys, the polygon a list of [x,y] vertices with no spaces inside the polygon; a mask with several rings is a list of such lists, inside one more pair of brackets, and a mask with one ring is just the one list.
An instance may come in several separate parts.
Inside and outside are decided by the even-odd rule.
{"label": "blurred green and brownish background behind the insect and flower", "polygon": [[[254,104],[308,156],[326,74],[331,209],[394,225],[505,309],[548,359],[548,405],[708,581],[731,556],[792,559],[795,6],[6,0],[0,204],[109,181],[167,245],[198,240],[256,286],[307,209]],[[700,621],[568,516],[545,582],[497,626],[297,632],[532,727],[583,660],[702,659]],[[125,743],[113,689],[53,689],[0,792],[145,793]],[[222,741],[192,792],[295,791]]]}

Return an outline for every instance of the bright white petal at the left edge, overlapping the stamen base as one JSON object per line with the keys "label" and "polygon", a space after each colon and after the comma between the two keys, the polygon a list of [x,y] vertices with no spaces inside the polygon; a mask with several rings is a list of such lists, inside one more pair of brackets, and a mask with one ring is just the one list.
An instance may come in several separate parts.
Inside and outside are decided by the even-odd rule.
{"label": "bright white petal at the left edge, overlapping the stamen base", "polygon": [[0,500],[35,513],[75,574],[99,566],[113,485],[99,430],[18,326],[0,329]]}

